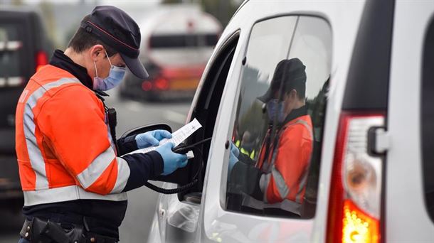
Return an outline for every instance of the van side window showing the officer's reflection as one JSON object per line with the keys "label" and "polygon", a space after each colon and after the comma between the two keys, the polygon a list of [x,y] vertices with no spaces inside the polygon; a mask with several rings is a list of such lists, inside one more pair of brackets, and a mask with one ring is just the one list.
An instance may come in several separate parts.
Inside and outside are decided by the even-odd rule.
{"label": "van side window showing the officer's reflection", "polygon": [[314,217],[332,33],[322,18],[253,26],[228,158],[226,209]]}

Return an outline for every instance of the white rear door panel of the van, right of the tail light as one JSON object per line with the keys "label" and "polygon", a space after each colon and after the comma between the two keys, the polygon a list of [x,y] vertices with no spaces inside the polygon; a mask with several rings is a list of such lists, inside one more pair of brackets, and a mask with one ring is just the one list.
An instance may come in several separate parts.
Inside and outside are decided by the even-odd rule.
{"label": "white rear door panel of the van, right of the tail light", "polygon": [[388,101],[387,242],[434,242],[425,207],[420,136],[423,45],[433,12],[431,1],[396,1]]}

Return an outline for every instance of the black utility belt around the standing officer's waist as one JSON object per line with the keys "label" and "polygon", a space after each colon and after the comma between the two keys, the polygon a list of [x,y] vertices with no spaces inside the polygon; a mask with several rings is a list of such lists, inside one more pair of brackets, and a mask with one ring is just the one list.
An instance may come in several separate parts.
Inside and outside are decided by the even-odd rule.
{"label": "black utility belt around the standing officer's waist", "polygon": [[83,225],[59,223],[33,217],[24,222],[21,237],[32,243],[117,243],[116,238],[89,232],[84,220]]}

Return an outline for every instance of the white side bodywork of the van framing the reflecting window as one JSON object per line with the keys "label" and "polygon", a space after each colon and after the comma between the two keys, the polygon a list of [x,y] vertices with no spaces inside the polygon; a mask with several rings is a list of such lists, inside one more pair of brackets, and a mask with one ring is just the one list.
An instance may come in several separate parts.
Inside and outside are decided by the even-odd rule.
{"label": "white side bodywork of the van framing the reflecting window", "polygon": [[[222,34],[222,39],[228,33],[240,29],[239,48],[235,50],[233,67],[228,74],[228,81],[238,80],[240,77],[240,65],[243,60],[246,43],[248,41],[250,30],[255,22],[260,19],[272,18],[275,16],[304,14],[320,16],[326,18],[332,26],[333,36],[345,36],[345,38],[333,38],[333,60],[332,60],[332,80],[331,95],[327,108],[327,121],[324,139],[334,141],[337,131],[337,123],[341,110],[344,82],[346,80],[346,70],[349,67],[351,59],[351,50],[354,45],[356,28],[361,16],[364,4],[361,2],[331,4],[330,2],[319,2],[318,4],[305,4],[300,1],[288,1],[270,4],[269,2],[248,1],[237,15],[233,17]],[[345,11],[342,11],[345,9]],[[351,11],[349,11],[351,9]],[[340,14],[339,11],[342,11]],[[347,16],[342,16],[347,13]],[[355,14],[356,13],[356,14]],[[253,18],[254,17],[254,18]],[[351,19],[349,21],[348,19]],[[345,19],[346,21],[342,21]],[[352,38],[351,38],[352,37]],[[216,50],[218,50],[218,43]],[[339,67],[339,68],[338,68]],[[270,229],[274,232],[285,232],[284,234],[272,234],[270,242],[279,241],[323,241],[325,239],[325,227],[327,220],[328,189],[329,176],[331,173],[332,158],[334,152],[334,143],[324,143],[322,172],[320,175],[319,195],[317,202],[317,215],[312,220],[295,220],[281,219],[275,217],[258,217],[245,215],[236,212],[227,212],[221,207],[224,200],[224,193],[220,188],[226,187],[227,165],[223,164],[224,158],[227,158],[227,150],[224,148],[226,139],[233,131],[231,120],[228,117],[234,117],[236,109],[236,98],[240,92],[240,84],[227,82],[225,92],[222,97],[221,109],[216,121],[216,130],[211,144],[211,153],[208,157],[208,168],[206,171],[206,188],[203,195],[203,230],[201,241],[223,242],[250,242],[262,241],[263,235],[258,234],[260,229]],[[198,92],[200,92],[198,90]],[[196,93],[196,96],[198,94]],[[192,105],[194,107],[194,104]],[[220,193],[216,193],[216,191]],[[212,193],[208,193],[212,192]],[[220,202],[220,203],[219,203]]]}

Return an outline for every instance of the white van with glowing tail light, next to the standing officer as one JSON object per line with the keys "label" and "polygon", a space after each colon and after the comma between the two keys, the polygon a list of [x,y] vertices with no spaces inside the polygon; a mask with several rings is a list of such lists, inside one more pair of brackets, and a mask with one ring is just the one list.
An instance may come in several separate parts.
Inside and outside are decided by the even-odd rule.
{"label": "white van with glowing tail light, next to the standing officer", "polygon": [[[203,125],[188,144],[211,144],[161,178],[186,184],[203,158],[199,183],[160,196],[148,242],[434,242],[433,11],[428,0],[245,1],[188,116]],[[252,161],[267,148],[258,97],[292,58],[305,65],[313,135],[297,213],[233,190],[255,181],[228,173],[245,131]]]}

